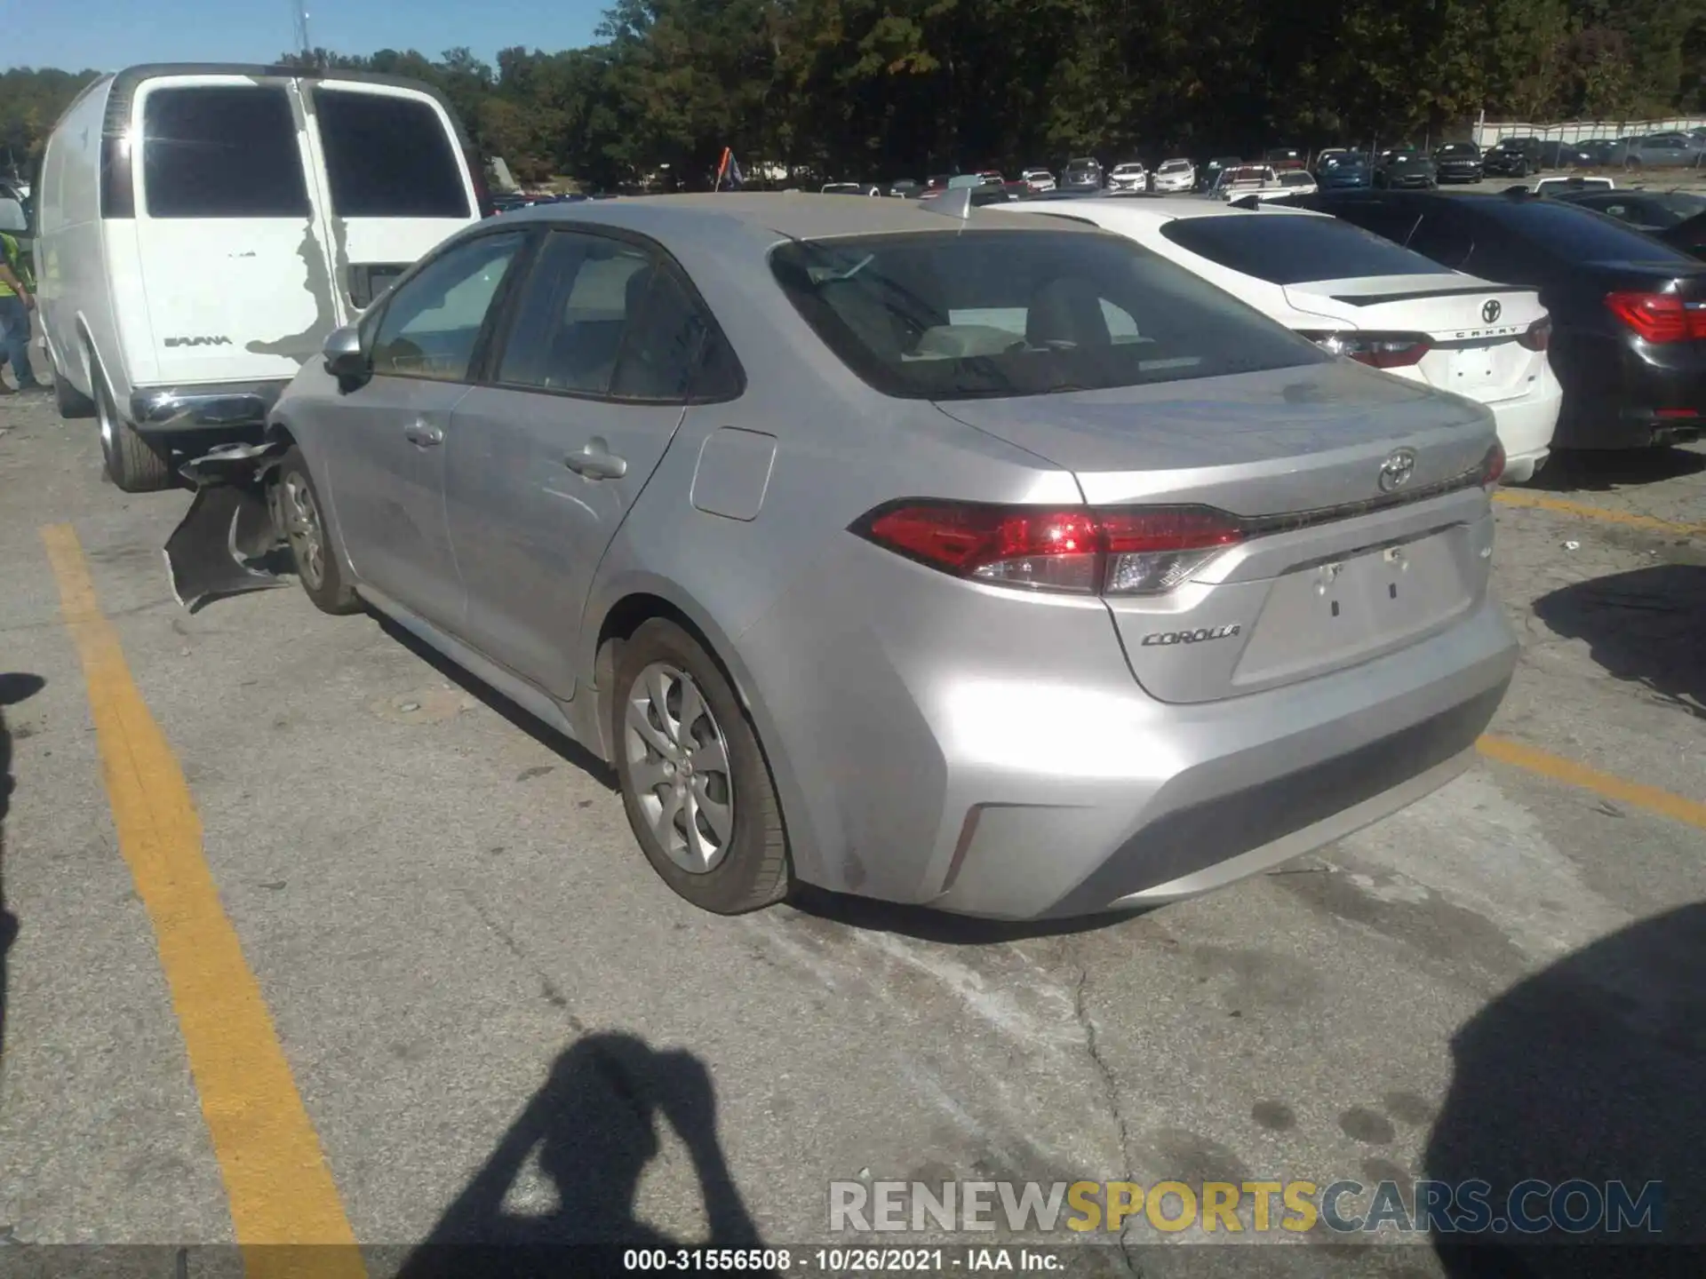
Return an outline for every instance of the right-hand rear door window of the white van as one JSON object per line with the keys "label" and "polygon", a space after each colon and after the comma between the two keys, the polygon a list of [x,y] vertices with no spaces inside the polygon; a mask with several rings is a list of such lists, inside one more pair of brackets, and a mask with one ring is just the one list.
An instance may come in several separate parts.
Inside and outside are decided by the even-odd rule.
{"label": "right-hand rear door window of the white van", "polygon": [[314,116],[338,217],[471,217],[462,159],[430,102],[314,85]]}

